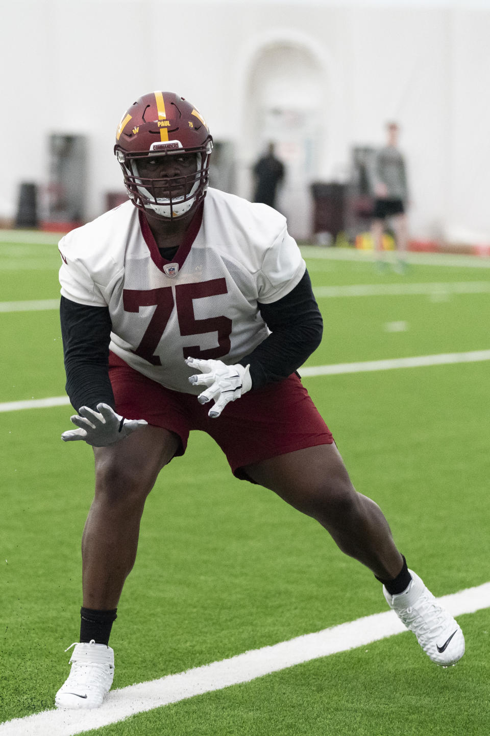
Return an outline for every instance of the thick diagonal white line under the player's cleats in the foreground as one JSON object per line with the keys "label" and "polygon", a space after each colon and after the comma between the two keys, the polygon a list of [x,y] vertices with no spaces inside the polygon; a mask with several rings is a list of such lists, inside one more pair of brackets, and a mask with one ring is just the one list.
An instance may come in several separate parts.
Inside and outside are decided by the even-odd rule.
{"label": "thick diagonal white line under the player's cleats in the foreground", "polygon": [[[439,601],[453,616],[489,608],[490,583],[444,595]],[[365,646],[402,631],[406,629],[394,611],[364,616],[330,629],[252,649],[236,657],[176,675],[112,690],[102,707],[97,710],[46,710],[25,718],[15,718],[0,724],[0,736],[73,736],[123,721],[136,713],[154,710],[202,693],[222,690],[230,685],[251,682],[301,662],[310,662],[311,659]],[[417,647],[415,640],[414,647]],[[428,666],[436,665],[428,662]],[[325,668],[327,667],[328,663],[325,662]]]}

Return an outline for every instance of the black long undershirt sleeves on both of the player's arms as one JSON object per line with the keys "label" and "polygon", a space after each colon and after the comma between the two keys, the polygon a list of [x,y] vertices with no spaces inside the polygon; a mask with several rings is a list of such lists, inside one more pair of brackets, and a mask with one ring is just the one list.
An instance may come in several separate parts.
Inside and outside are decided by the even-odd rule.
{"label": "black long undershirt sleeves on both of the player's arms", "polygon": [[[258,303],[270,335],[239,363],[250,364],[253,389],[294,373],[317,349],[323,321],[305,272],[295,289],[272,304]],[[76,411],[104,402],[115,408],[109,381],[109,308],[92,307],[61,297],[61,332],[66,392]]]}

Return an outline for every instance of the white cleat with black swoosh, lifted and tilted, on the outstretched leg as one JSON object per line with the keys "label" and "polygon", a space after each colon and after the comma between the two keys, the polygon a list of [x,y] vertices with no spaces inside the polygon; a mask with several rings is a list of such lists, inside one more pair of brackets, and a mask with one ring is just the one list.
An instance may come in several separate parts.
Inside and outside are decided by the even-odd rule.
{"label": "white cleat with black swoosh, lifted and tilted, on the outstretched leg", "polygon": [[411,583],[399,595],[390,595],[383,586],[384,597],[390,608],[413,631],[425,654],[436,665],[455,665],[464,654],[464,636],[461,627],[441,606],[424,582],[412,570]]}

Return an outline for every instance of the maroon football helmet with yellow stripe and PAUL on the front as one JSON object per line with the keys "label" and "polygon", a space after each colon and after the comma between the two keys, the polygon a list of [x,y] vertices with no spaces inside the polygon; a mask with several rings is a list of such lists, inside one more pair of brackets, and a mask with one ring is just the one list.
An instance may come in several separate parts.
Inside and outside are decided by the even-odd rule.
{"label": "maroon football helmet with yellow stripe and PAUL on the front", "polygon": [[[159,219],[181,217],[206,196],[212,136],[201,113],[173,92],[151,92],[123,114],[114,152],[133,204]],[[140,176],[138,160],[195,155],[192,174]],[[143,167],[142,167],[143,171]],[[162,196],[163,195],[163,196]]]}

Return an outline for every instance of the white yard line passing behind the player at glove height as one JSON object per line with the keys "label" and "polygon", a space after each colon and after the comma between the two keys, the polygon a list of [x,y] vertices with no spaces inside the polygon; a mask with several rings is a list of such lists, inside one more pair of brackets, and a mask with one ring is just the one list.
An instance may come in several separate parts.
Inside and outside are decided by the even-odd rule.
{"label": "white yard line passing behind the player at glove height", "polygon": [[[382,361],[362,361],[360,363],[334,363],[326,366],[307,366],[299,369],[301,376],[311,378],[317,375],[342,375],[342,373],[364,373],[394,368],[419,368],[440,366],[453,363],[476,363],[490,361],[490,350],[473,350],[469,353],[440,353],[439,355],[416,355],[414,358],[392,358]],[[48,408],[65,406],[70,400],[67,396],[52,396],[46,399],[24,401],[7,401],[0,403],[2,411],[19,411],[20,409]]]}

